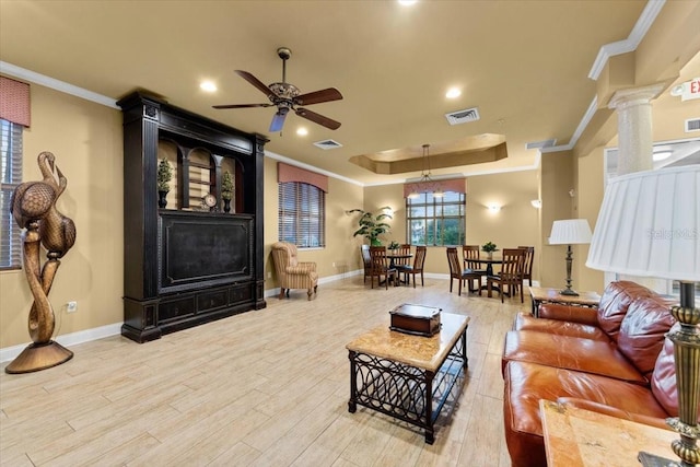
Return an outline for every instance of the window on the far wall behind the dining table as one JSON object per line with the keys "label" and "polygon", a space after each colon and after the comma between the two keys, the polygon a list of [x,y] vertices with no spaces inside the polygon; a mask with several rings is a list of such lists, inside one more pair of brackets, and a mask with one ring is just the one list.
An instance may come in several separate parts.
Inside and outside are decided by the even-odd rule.
{"label": "window on the far wall behind the dining table", "polygon": [[442,198],[422,192],[406,198],[406,232],[411,245],[448,246],[465,243],[466,196],[445,191]]}

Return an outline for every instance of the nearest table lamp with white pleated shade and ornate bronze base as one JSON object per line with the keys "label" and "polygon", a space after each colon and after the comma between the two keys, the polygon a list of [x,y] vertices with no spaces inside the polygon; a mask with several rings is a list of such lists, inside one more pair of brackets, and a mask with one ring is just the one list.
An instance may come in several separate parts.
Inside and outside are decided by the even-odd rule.
{"label": "nearest table lamp with white pleated shade and ornate bronze base", "polygon": [[680,327],[666,335],[674,343],[679,417],[666,423],[680,434],[672,443],[680,465],[695,466],[700,459],[700,310],[695,306],[695,282],[700,281],[700,165],[612,178],[586,266],[679,281],[680,306],[673,306],[670,314]]}

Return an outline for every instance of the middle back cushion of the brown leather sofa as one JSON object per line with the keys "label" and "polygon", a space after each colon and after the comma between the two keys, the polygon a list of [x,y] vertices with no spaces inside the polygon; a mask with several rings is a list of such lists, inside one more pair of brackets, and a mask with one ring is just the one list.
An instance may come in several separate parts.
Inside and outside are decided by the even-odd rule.
{"label": "middle back cushion of the brown leather sofa", "polygon": [[651,377],[665,335],[675,322],[663,299],[635,299],[620,325],[617,348],[640,373]]}

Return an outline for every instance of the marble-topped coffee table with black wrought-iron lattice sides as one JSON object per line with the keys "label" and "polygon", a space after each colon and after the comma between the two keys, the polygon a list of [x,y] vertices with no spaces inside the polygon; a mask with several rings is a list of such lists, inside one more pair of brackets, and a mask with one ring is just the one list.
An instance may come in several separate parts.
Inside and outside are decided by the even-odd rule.
{"label": "marble-topped coffee table with black wrought-iron lattice sides", "polygon": [[445,401],[462,390],[467,367],[469,317],[441,313],[442,328],[432,337],[376,327],[346,346],[350,359],[350,400],[425,430],[433,444],[433,423]]}

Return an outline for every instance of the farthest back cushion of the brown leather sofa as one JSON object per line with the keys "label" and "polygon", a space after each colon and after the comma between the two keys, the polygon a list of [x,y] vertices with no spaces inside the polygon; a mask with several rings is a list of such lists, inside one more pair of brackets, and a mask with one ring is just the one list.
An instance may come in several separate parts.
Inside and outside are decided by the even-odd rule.
{"label": "farthest back cushion of the brown leather sofa", "polygon": [[630,304],[637,297],[654,296],[656,293],[630,281],[610,282],[600,296],[598,326],[610,340],[617,342],[620,325]]}

